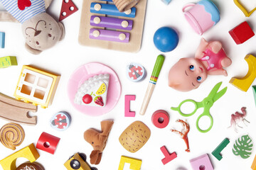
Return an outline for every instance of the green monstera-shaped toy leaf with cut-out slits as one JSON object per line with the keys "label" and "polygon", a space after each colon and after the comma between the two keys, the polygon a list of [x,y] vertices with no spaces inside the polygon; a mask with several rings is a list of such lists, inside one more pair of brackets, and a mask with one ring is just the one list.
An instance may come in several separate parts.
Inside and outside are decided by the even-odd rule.
{"label": "green monstera-shaped toy leaf with cut-out slits", "polygon": [[232,151],[236,156],[240,155],[243,159],[247,159],[252,154],[252,146],[252,139],[249,135],[243,135],[235,141]]}

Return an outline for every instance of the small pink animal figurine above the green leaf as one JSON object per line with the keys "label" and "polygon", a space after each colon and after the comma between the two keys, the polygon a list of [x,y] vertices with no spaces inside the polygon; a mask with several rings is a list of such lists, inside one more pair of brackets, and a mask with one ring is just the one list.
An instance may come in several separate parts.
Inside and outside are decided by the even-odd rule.
{"label": "small pink animal figurine above the green leaf", "polygon": [[[245,121],[247,123],[250,123],[248,120],[245,119],[246,116],[246,111],[245,111],[245,107],[241,108],[242,113],[239,112],[235,112],[235,114],[231,115],[231,120],[230,120],[230,127],[228,128],[233,128],[233,130],[235,130],[235,132],[238,132],[237,127],[242,128],[239,123],[242,122],[245,124]],[[246,124],[245,124],[246,125]]]}

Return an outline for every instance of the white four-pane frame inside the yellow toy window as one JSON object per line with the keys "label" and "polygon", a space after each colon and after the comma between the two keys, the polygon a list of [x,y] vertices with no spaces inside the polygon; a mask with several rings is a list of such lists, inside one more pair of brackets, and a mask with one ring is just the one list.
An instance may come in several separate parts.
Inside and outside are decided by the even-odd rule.
{"label": "white four-pane frame inside the yellow toy window", "polygon": [[24,69],[21,80],[18,83],[17,94],[28,98],[30,101],[46,103],[53,77],[48,77],[30,69]]}

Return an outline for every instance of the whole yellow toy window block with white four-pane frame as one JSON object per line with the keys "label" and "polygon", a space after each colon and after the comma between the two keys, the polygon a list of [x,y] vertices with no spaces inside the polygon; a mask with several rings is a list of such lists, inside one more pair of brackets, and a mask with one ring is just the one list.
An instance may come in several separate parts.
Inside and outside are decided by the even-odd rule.
{"label": "whole yellow toy window block with white four-pane frame", "polygon": [[47,108],[53,101],[58,81],[59,75],[24,65],[14,96],[25,103],[31,102],[34,106],[41,105],[41,108]]}

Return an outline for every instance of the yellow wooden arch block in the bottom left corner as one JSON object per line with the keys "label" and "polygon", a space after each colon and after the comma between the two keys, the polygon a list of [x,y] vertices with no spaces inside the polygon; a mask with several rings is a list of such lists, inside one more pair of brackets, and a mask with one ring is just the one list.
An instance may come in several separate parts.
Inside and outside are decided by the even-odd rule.
{"label": "yellow wooden arch block in the bottom left corner", "polygon": [[11,154],[9,157],[2,159],[0,164],[4,170],[16,170],[16,159],[19,157],[26,158],[30,162],[35,162],[40,155],[38,154],[35,145],[32,143],[31,145],[28,145],[28,147],[24,147],[18,152]]}

